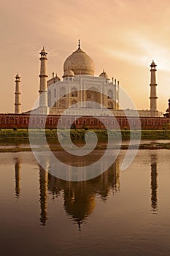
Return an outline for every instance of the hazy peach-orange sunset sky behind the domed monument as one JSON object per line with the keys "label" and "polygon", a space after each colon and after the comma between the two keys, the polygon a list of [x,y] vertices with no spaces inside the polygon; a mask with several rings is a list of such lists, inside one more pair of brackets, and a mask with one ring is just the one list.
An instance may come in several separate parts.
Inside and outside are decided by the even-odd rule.
{"label": "hazy peach-orange sunset sky behind the domed monument", "polygon": [[[47,73],[63,75],[63,62],[81,48],[95,75],[116,78],[136,109],[150,108],[150,64],[157,64],[158,110],[170,97],[169,0],[1,0],[0,113],[13,113],[15,75],[21,77],[22,111],[39,96],[39,52],[48,53]],[[128,108],[128,106],[127,106]]]}

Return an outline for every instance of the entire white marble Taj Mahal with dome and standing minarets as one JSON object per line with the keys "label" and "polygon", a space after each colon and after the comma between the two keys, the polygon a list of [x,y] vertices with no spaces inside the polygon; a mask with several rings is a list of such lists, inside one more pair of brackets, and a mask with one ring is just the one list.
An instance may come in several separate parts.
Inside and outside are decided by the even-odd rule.
{"label": "entire white marble Taj Mahal with dome and standing minarets", "polygon": [[[35,110],[21,111],[20,75],[15,77],[15,114],[30,114],[38,110],[40,114],[61,115],[64,110],[72,110],[72,115],[93,113],[95,116],[105,116],[106,109],[115,116],[134,116],[134,110],[120,108],[120,83],[109,78],[103,70],[95,75],[93,59],[78,48],[63,64],[63,77],[53,73],[48,80],[47,51],[42,48],[40,54],[39,75],[39,107]],[[158,117],[156,64],[150,64],[150,110],[138,110],[140,117]],[[92,111],[92,112],[91,112]]]}

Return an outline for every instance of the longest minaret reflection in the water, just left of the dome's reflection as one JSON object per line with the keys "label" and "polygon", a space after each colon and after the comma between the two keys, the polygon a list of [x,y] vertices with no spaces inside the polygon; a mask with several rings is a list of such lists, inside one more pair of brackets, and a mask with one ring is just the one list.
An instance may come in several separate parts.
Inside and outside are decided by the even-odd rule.
{"label": "longest minaret reflection in the water, just left of the dome's reflection", "polygon": [[41,206],[40,222],[43,226],[45,226],[47,222],[47,184],[47,171],[42,169],[42,167],[39,167],[39,201]]}

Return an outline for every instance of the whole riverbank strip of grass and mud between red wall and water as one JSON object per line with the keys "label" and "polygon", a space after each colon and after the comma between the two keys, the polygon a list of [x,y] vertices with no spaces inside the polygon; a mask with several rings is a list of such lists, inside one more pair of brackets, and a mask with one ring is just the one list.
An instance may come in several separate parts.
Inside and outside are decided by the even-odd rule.
{"label": "whole riverbank strip of grass and mud between red wall and water", "polygon": [[[63,148],[58,142],[58,135],[56,129],[31,129],[30,136],[34,139],[34,150],[42,150],[41,149],[41,140],[42,135],[45,132],[47,142],[50,146],[50,149],[53,151],[61,151]],[[69,135],[69,130],[61,129],[58,131],[61,140],[65,140],[66,136]],[[71,138],[74,143],[79,146],[83,146],[85,144],[85,133],[90,132],[90,130],[74,130],[70,131]],[[106,130],[91,130],[90,136],[93,138],[93,133],[95,132],[98,136],[98,144],[95,149],[104,150],[107,148],[107,131]],[[120,138],[120,132],[115,130],[110,130],[112,134],[112,138],[117,140]],[[122,130],[121,136],[123,143],[121,144],[121,149],[128,149],[130,135],[133,140],[131,140],[131,149],[138,148],[136,140],[139,140],[140,131],[138,130]],[[141,132],[142,141],[140,143],[139,149],[170,149],[170,130],[143,130]],[[118,143],[120,144],[120,143]],[[119,147],[115,145],[114,147]],[[31,146],[29,145],[29,135],[28,129],[1,129],[0,131],[0,153],[1,152],[19,152],[19,151],[31,151]]]}

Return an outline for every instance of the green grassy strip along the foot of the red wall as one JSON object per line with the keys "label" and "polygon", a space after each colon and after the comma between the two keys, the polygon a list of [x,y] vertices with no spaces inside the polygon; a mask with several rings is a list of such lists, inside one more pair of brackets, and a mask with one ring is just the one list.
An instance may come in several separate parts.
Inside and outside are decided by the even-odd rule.
{"label": "green grassy strip along the foot of the red wall", "polygon": [[[31,129],[31,137],[35,139],[41,139],[43,129]],[[69,135],[68,129],[60,129],[58,130],[62,139],[66,138],[66,135]],[[71,129],[71,138],[72,140],[84,140],[85,133],[90,132],[90,136],[94,136],[93,132],[98,136],[98,140],[105,141],[107,140],[107,130],[104,129],[94,129],[94,130],[86,130],[86,129]],[[120,137],[120,132],[117,130],[109,130],[114,139]],[[46,129],[45,130],[47,140],[53,140],[58,142],[58,135],[56,129]],[[130,137],[132,139],[139,138],[140,131],[132,130],[131,132],[128,129],[123,129],[121,131],[122,139],[129,140]],[[142,140],[170,140],[170,129],[162,129],[162,130],[142,130],[141,132]],[[28,129],[1,129],[0,130],[0,142],[12,140],[12,141],[28,141]]]}

